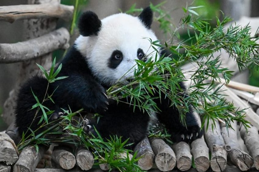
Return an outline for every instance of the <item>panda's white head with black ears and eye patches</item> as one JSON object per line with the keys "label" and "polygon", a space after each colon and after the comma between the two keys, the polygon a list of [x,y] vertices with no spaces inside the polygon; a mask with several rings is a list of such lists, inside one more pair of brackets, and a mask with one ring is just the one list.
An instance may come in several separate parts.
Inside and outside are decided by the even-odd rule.
{"label": "panda's white head with black ears and eye patches", "polygon": [[150,43],[150,39],[157,40],[150,29],[152,20],[150,7],[138,17],[119,13],[102,20],[93,12],[85,12],[79,19],[80,36],[75,47],[95,77],[103,84],[115,84],[133,77],[136,59],[145,61],[159,56]]}

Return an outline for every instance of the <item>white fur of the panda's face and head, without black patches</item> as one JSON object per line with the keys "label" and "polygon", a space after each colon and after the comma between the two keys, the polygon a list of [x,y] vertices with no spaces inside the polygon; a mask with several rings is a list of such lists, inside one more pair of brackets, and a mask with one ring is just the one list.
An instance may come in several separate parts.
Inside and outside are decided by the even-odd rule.
{"label": "white fur of the panda's face and head, without black patches", "polygon": [[[156,51],[148,39],[156,41],[157,38],[138,17],[120,13],[104,18],[101,23],[98,36],[80,35],[75,41],[76,48],[86,57],[93,74],[101,82],[115,84],[119,79],[133,77],[138,48],[141,48],[148,58],[155,58]],[[159,47],[155,48],[159,50]],[[122,52],[123,60],[118,67],[111,69],[108,62],[115,50]],[[159,54],[157,56],[159,57]]]}

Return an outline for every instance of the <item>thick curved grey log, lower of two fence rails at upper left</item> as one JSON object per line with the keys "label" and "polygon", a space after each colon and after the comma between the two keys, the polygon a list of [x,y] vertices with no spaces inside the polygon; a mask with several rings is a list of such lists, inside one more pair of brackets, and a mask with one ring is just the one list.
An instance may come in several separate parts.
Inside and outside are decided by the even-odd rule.
{"label": "thick curved grey log, lower of two fence rails at upper left", "polygon": [[69,32],[60,28],[49,34],[14,44],[0,44],[0,63],[34,59],[59,48],[68,48]]}

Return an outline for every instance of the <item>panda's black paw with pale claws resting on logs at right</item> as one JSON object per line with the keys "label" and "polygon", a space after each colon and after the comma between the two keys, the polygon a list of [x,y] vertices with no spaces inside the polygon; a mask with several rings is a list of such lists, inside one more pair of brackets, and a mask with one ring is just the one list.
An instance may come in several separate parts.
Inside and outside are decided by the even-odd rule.
{"label": "panda's black paw with pale claws resting on logs at right", "polygon": [[181,131],[172,132],[171,138],[173,142],[187,142],[192,143],[192,141],[196,140],[197,138],[201,138],[203,135],[203,131],[198,125],[189,126],[182,128]]}

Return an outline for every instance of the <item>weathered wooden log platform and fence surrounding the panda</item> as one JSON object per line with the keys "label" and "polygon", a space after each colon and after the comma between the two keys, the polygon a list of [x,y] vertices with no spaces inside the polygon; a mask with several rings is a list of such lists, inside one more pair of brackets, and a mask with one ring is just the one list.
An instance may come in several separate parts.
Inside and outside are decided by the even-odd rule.
{"label": "weathered wooden log platform and fence surrounding the panda", "polygon": [[[35,2],[38,4],[32,4]],[[69,33],[65,28],[55,30],[56,18],[71,19],[72,13],[73,7],[60,5],[59,0],[29,0],[29,5],[0,7],[0,20],[7,22],[25,20],[25,26],[28,28],[24,38],[27,41],[0,44],[0,63],[21,62],[20,80],[16,88],[32,73],[38,72],[35,62],[48,68],[51,63],[51,52],[58,48],[68,48]],[[186,70],[190,69],[186,67]],[[230,95],[228,101],[233,102],[236,107],[247,108],[249,102],[259,106],[259,99],[257,99],[259,88],[239,83],[232,84],[232,82],[228,86],[224,87],[225,94]],[[239,90],[230,89],[233,86]],[[243,88],[255,95],[240,91],[244,90]],[[100,164],[100,169],[92,169],[93,154],[83,148],[73,155],[65,149],[55,149],[54,146],[51,149],[40,146],[39,151],[28,146],[19,155],[14,143],[17,140],[16,133],[12,127],[15,96],[16,90],[13,90],[10,98],[5,102],[3,117],[11,126],[6,131],[11,138],[5,133],[0,133],[0,171],[11,171],[11,167],[15,172],[109,170],[109,164]],[[241,98],[246,99],[246,103]],[[181,171],[204,172],[246,171],[254,164],[256,170],[259,170],[259,117],[252,109],[246,109],[246,119],[253,125],[248,132],[236,123],[232,125],[234,130],[228,129],[227,132],[223,123],[215,121],[216,129],[212,131],[209,127],[204,138],[195,140],[191,147],[185,142],[168,145],[160,138],[144,138],[134,149],[135,152],[137,151],[137,157],[141,157],[138,165],[141,169],[149,171],[176,171],[177,168]],[[240,144],[239,140],[242,141]],[[209,150],[211,159],[209,159]],[[52,160],[52,163],[59,167],[58,169],[36,168],[41,164],[41,158],[46,156],[46,152],[49,154],[46,159]],[[122,155],[123,157],[125,155]],[[191,168],[192,159],[196,169]],[[51,165],[49,163],[49,166]],[[228,167],[228,165],[235,165],[235,167]]]}

